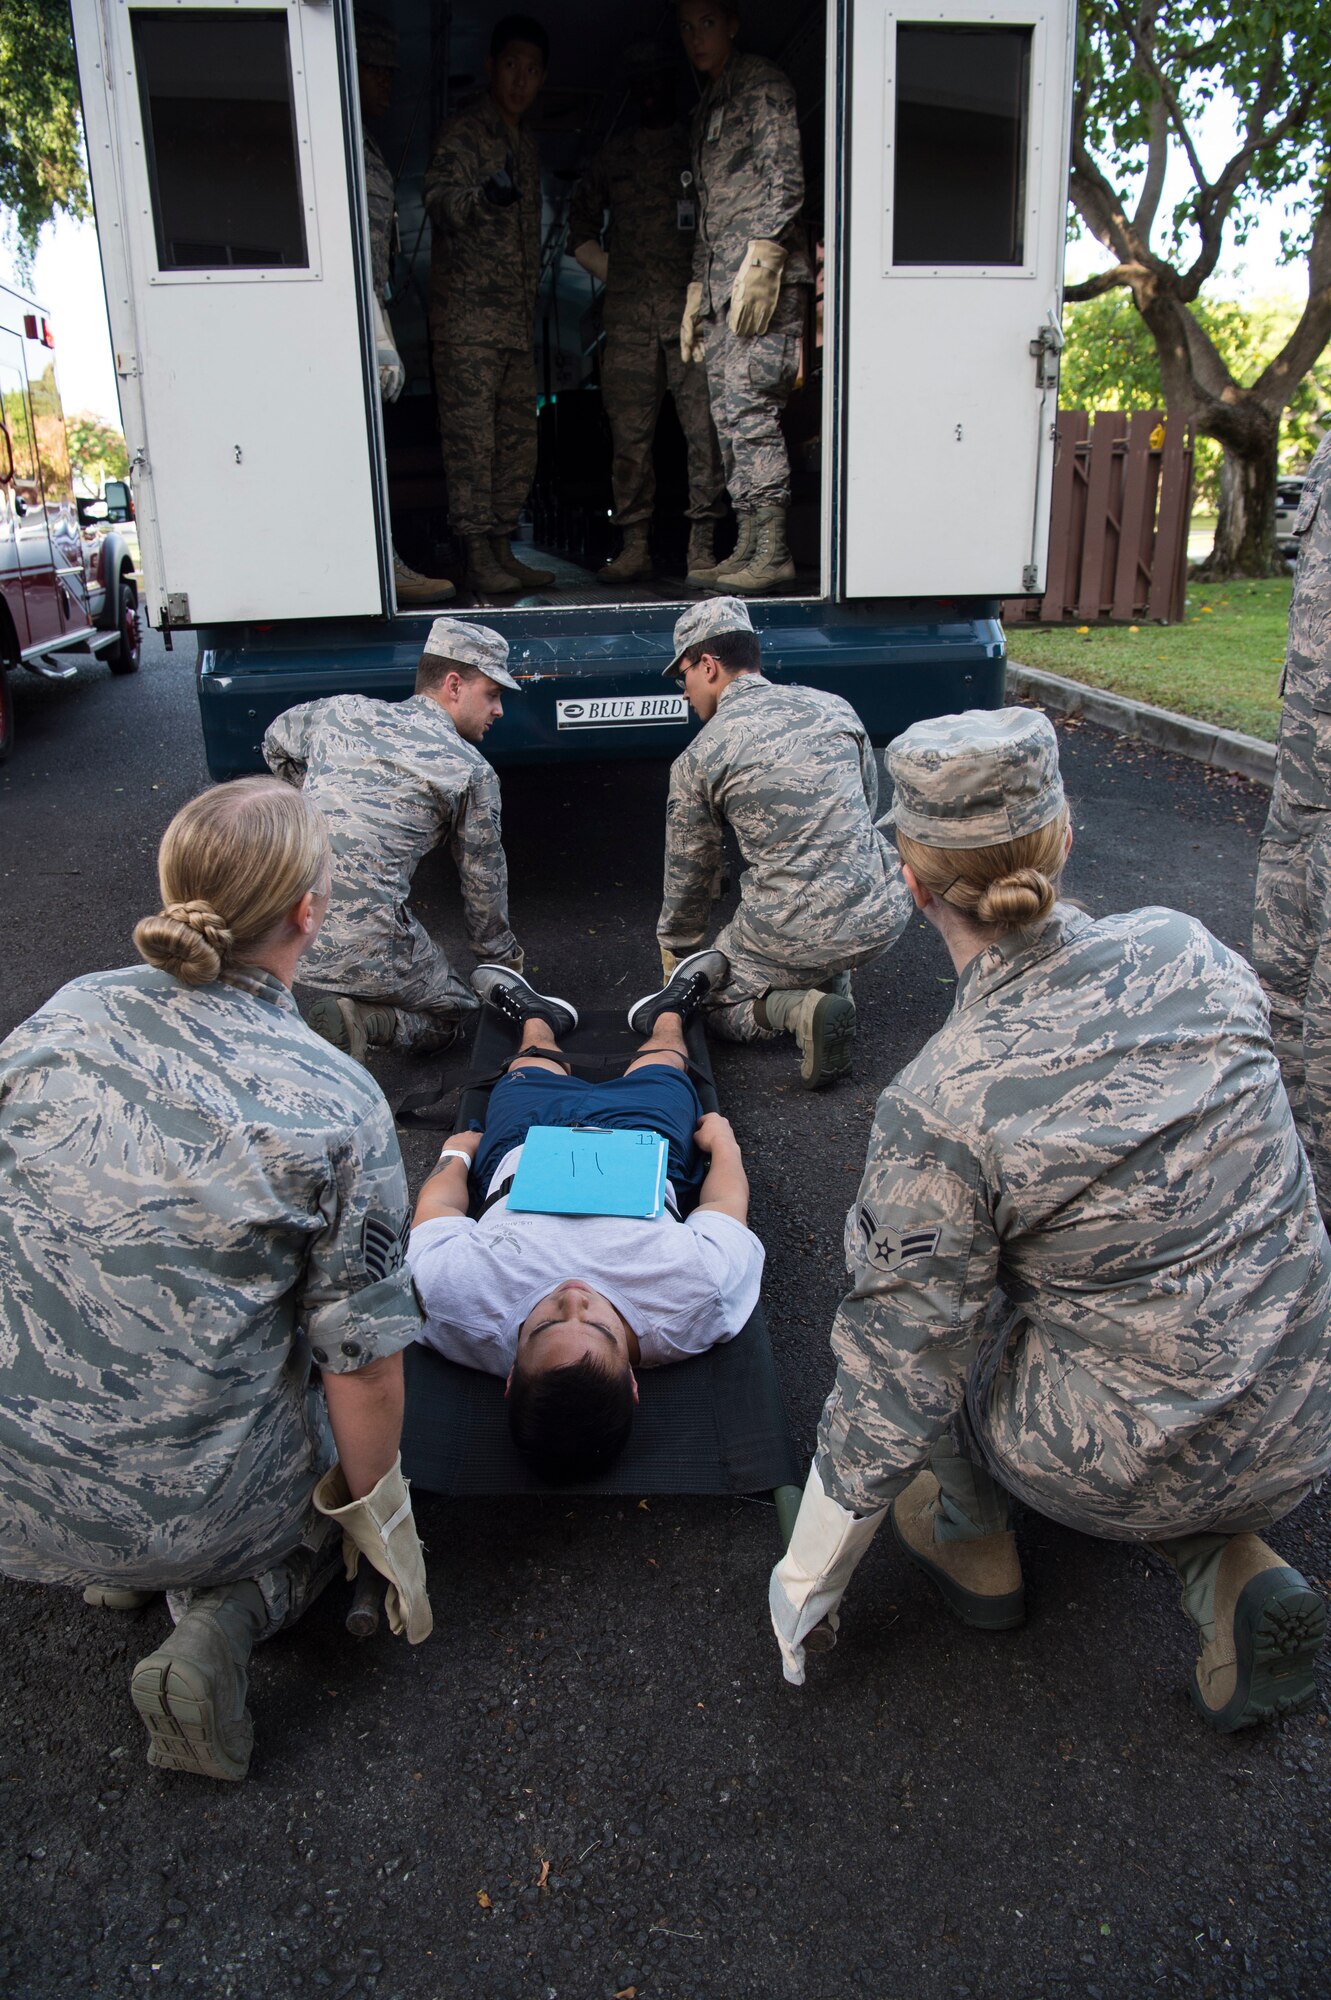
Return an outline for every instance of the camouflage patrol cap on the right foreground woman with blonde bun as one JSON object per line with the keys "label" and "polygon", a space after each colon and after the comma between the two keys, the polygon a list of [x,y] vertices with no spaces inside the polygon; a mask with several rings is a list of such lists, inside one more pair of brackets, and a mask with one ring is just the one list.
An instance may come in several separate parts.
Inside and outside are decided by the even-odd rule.
{"label": "camouflage patrol cap on the right foreground woman with blonde bun", "polygon": [[877,824],[929,848],[991,848],[1063,810],[1059,740],[1039,708],[967,708],[915,722],[887,746],[895,786]]}

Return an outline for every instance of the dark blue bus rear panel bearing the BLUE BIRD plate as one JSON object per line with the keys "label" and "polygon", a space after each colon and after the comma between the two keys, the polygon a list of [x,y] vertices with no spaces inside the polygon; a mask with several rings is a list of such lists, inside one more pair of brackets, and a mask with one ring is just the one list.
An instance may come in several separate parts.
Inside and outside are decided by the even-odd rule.
{"label": "dark blue bus rear panel bearing the BLUE BIRD plate", "polygon": [[[504,718],[486,736],[492,764],[594,762],[675,756],[697,724],[677,712],[677,682],[662,670],[679,606],[570,606],[568,612],[484,608],[476,622],[510,642],[522,694],[504,696]],[[997,708],[1003,700],[1003,630],[997,604],[751,604],[763,672],[841,694],[873,742],[921,716]],[[208,770],[236,778],[262,770],[264,730],[296,702],[326,694],[412,692],[428,622],[320,622],[218,626],[200,632],[198,698]],[[616,722],[606,704],[648,698],[660,714]],[[562,702],[560,716],[556,704]],[[572,706],[570,706],[572,704]],[[610,720],[608,720],[610,718]]]}

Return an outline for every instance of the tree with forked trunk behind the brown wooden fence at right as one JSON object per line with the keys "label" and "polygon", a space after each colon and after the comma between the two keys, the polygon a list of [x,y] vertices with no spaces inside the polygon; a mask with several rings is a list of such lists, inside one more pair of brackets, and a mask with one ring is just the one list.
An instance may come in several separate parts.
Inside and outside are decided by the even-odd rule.
{"label": "tree with forked trunk behind the brown wooden fence at right", "polygon": [[[1209,174],[1199,120],[1229,92],[1231,156]],[[1281,414],[1331,338],[1331,10],[1325,0],[1083,0],[1071,200],[1113,256],[1069,300],[1127,288],[1155,342],[1169,416],[1223,448],[1213,576],[1277,568]],[[1177,152],[1189,190],[1161,212]],[[1243,382],[1199,312],[1227,236],[1261,202],[1301,190],[1285,254],[1307,262],[1307,304],[1279,352]]]}

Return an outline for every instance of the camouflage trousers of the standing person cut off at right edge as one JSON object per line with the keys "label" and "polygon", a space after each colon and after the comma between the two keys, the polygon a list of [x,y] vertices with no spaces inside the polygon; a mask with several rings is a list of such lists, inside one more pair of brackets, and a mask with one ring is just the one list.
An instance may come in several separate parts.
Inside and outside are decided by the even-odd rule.
{"label": "camouflage trousers of the standing person cut off at right edge", "polygon": [[1303,1140],[1317,1204],[1331,1214],[1331,812],[1277,776],[1257,850],[1253,966]]}

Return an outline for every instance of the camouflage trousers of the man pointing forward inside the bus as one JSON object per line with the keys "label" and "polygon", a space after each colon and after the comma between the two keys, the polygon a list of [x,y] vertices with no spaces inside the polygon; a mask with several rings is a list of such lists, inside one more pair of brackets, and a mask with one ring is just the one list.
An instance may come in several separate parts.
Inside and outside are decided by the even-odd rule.
{"label": "camouflage trousers of the man pointing forward inside the bus", "polygon": [[480,346],[436,326],[434,386],[454,534],[512,536],[536,478],[532,350]]}

